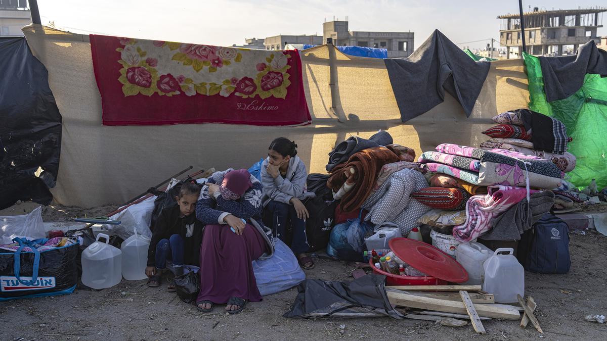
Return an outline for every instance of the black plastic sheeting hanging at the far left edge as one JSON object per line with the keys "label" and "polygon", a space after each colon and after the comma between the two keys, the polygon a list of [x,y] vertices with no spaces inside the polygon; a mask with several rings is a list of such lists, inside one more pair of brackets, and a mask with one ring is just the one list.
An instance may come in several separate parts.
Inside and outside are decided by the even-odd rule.
{"label": "black plastic sheeting hanging at the far left edge", "polygon": [[46,67],[25,38],[1,37],[0,75],[0,209],[17,200],[49,204],[59,170],[61,114]]}

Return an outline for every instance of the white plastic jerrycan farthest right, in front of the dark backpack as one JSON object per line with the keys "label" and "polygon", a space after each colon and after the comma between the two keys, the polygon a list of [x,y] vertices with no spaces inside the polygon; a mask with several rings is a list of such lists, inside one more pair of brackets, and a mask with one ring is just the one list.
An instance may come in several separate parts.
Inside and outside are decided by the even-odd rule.
{"label": "white plastic jerrycan farthest right, in front of the dark backpack", "polygon": [[513,253],[512,248],[499,248],[484,263],[483,290],[493,294],[497,303],[518,302],[517,294],[525,294],[525,270]]}

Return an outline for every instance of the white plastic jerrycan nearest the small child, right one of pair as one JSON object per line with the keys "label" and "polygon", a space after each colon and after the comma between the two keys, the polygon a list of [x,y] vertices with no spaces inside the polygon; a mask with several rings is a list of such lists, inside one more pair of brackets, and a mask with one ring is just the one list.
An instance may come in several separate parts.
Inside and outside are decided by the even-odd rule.
{"label": "white plastic jerrycan nearest the small child, right one of pair", "polygon": [[137,233],[127,238],[120,245],[122,251],[122,277],[126,280],[147,279],[146,266],[148,265],[148,248],[150,238]]}

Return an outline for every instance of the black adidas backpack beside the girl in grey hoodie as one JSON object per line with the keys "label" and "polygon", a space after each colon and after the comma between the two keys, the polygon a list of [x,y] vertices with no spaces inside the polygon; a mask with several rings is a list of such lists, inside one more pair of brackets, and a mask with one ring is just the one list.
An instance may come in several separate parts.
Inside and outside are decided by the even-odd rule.
{"label": "black adidas backpack beside the girl in grey hoodie", "polygon": [[331,230],[335,226],[337,202],[332,197],[329,199],[328,195],[320,195],[306,201],[305,207],[310,218],[305,221],[305,232],[310,252],[327,247]]}

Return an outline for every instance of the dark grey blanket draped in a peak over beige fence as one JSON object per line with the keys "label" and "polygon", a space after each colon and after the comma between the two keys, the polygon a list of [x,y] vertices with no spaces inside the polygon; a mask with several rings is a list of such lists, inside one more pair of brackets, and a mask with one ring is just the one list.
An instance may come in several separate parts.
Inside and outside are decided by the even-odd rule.
{"label": "dark grey blanket draped in a peak over beige fence", "polygon": [[442,103],[445,90],[470,116],[490,67],[487,61],[474,61],[439,30],[409,57],[384,62],[403,122]]}

